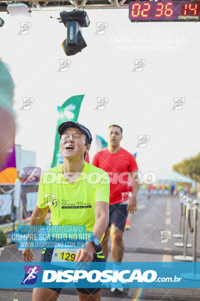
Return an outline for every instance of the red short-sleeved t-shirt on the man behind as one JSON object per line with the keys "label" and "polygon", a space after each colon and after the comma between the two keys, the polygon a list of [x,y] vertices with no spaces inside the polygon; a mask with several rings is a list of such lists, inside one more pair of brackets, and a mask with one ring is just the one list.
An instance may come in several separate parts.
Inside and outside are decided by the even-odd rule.
{"label": "red short-sleeved t-shirt on the man behind", "polygon": [[121,193],[127,193],[128,173],[138,170],[134,156],[122,147],[116,153],[109,153],[107,147],[104,147],[93,157],[92,165],[101,168],[109,175],[109,204],[120,203]]}

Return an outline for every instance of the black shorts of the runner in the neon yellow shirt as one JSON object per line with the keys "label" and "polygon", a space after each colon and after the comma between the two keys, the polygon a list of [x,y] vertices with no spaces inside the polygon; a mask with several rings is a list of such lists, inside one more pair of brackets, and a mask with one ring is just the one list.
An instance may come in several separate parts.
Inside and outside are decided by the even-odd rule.
{"label": "black shorts of the runner in the neon yellow shirt", "polygon": [[[51,261],[51,257],[52,257],[52,253],[53,253],[53,249],[44,249],[41,252],[41,258],[40,258],[40,262],[50,262]],[[105,257],[103,255],[102,252],[102,247],[101,245],[98,245],[94,251],[93,251],[93,260],[92,262],[106,262]],[[58,294],[61,291],[61,287],[60,288],[49,288],[52,289],[54,291],[56,291]],[[101,288],[76,288],[79,292],[85,293],[85,294],[94,294],[97,293]]]}

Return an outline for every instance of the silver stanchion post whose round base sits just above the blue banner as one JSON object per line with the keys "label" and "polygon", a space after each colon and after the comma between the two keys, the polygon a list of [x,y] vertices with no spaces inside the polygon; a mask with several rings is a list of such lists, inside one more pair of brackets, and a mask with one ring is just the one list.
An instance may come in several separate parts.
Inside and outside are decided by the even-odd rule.
{"label": "silver stanchion post whose round base sits just above the blue banner", "polygon": [[[188,240],[188,231],[189,231],[189,216],[190,216],[190,211],[191,211],[191,207],[190,207],[191,201],[192,201],[191,198],[186,199],[184,235],[183,235],[183,239],[184,239],[183,254],[175,255],[173,257],[174,259],[180,260],[180,261],[192,261],[193,260],[193,256],[187,256],[187,245],[188,245],[187,240]],[[195,217],[194,217],[194,224],[195,224]],[[191,231],[191,227],[190,227],[190,231]],[[193,232],[193,231],[191,231],[191,232]],[[193,232],[193,236],[196,235],[196,226],[195,226],[194,232]],[[194,249],[194,247],[193,247],[193,249]],[[195,246],[195,252],[196,252],[196,246]]]}

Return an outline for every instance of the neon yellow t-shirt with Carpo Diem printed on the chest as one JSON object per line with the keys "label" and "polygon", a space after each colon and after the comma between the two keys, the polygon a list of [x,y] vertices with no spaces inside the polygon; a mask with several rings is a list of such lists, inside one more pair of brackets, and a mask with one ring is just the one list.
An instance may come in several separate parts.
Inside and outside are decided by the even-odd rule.
{"label": "neon yellow t-shirt with Carpo Diem printed on the chest", "polygon": [[[109,176],[102,169],[84,162],[79,178],[69,184],[62,174],[63,166],[64,164],[51,168],[41,177],[37,207],[45,208],[45,195],[51,194],[54,199],[48,201],[51,212],[50,225],[85,225],[86,231],[92,231],[95,223],[95,203],[108,203],[109,200]],[[87,180],[83,180],[91,173],[93,181],[89,176]],[[100,181],[94,179],[97,174]],[[54,175],[57,175],[54,183],[45,184],[52,182],[48,179],[52,179]],[[96,180],[99,182],[92,184]]]}

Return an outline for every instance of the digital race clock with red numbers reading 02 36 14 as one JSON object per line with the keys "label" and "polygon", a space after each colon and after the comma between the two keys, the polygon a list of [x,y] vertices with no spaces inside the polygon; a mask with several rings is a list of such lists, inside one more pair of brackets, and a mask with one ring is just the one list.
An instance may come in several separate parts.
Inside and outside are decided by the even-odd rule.
{"label": "digital race clock with red numbers reading 02 36 14", "polygon": [[135,1],[129,4],[131,22],[200,21],[200,1]]}

